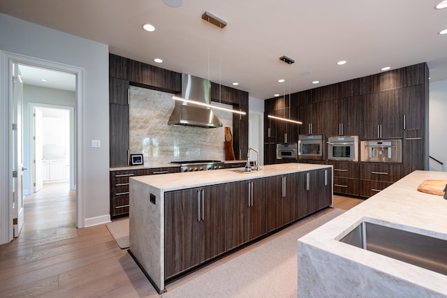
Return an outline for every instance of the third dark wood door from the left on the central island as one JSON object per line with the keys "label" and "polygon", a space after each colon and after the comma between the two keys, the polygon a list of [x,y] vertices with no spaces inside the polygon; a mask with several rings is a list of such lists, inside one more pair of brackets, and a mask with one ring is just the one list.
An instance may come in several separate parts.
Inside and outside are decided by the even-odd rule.
{"label": "third dark wood door from the left on the central island", "polygon": [[235,248],[249,239],[249,181],[226,184],[226,249]]}

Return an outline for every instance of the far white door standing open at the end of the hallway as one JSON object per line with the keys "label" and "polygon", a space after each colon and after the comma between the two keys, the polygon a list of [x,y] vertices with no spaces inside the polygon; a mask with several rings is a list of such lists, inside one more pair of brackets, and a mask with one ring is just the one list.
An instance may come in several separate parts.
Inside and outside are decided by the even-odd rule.
{"label": "far white door standing open at the end of the hallway", "polygon": [[38,107],[34,107],[34,190],[36,193],[43,187],[43,112]]}

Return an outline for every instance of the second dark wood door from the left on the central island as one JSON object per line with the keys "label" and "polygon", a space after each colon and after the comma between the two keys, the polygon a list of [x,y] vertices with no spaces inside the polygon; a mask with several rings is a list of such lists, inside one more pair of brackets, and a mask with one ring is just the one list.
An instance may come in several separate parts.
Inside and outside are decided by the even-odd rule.
{"label": "second dark wood door from the left on the central island", "polygon": [[[204,262],[226,251],[225,185],[219,184],[200,188],[203,195],[200,211],[200,262]],[[193,201],[194,198],[193,198]]]}

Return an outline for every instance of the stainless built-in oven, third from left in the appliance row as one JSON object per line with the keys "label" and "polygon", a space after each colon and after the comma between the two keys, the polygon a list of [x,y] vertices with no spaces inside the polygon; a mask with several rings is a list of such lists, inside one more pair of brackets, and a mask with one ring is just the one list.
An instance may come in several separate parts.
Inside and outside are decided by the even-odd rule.
{"label": "stainless built-in oven, third from left in the appliance row", "polygon": [[329,161],[358,161],[358,135],[328,137]]}

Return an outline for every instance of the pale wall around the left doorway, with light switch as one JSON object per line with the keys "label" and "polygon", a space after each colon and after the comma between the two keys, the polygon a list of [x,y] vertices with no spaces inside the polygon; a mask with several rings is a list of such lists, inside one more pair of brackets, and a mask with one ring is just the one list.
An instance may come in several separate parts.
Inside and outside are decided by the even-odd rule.
{"label": "pale wall around the left doorway, with light switch", "polygon": [[[82,161],[78,162],[77,172],[82,174],[78,177],[78,196],[84,198],[82,212],[85,215],[78,226],[110,221],[108,45],[0,14],[0,50],[82,68],[83,94],[80,98],[83,106],[78,103],[76,114],[83,117],[76,117],[80,120],[76,126],[77,146],[82,146],[78,151],[78,161]],[[6,67],[1,65],[2,73]],[[4,103],[8,98],[3,94],[1,101]],[[5,129],[9,126],[7,122],[2,119],[0,123],[3,140],[8,140],[4,135],[8,133]],[[91,140],[101,140],[101,147],[92,148]],[[4,152],[9,144],[3,142],[2,146],[0,153],[6,156]],[[0,168],[5,167],[1,164]],[[5,181],[2,182],[0,188],[4,189]],[[7,198],[2,196],[1,200]]]}

